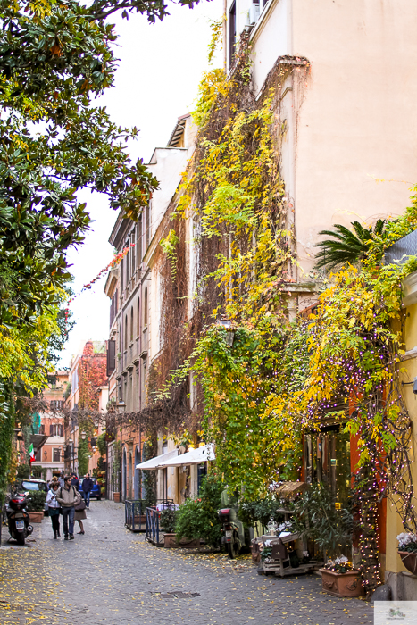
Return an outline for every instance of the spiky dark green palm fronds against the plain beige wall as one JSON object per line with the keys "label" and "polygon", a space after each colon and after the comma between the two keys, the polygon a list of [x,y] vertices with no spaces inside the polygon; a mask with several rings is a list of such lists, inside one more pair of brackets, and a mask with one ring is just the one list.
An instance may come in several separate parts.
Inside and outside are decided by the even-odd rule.
{"label": "spiky dark green palm fronds against the plain beige wall", "polygon": [[354,221],[352,223],[354,230],[339,223],[335,224],[334,230],[321,230],[320,235],[332,238],[316,243],[315,247],[321,248],[321,251],[315,255],[316,268],[326,268],[330,271],[346,262],[355,264],[363,261],[369,251],[368,242],[372,237],[383,233],[385,223],[386,220],[379,219],[372,229],[372,226],[363,228],[359,221]]}

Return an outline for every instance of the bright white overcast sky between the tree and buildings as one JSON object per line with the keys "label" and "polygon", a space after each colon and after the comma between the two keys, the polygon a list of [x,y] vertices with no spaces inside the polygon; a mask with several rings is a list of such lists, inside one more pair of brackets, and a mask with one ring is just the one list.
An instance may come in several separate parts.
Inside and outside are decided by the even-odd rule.
{"label": "bright white overcast sky between the tree and buildings", "polygon": [[[129,144],[134,160],[142,157],[148,162],[154,147],[166,146],[177,118],[193,110],[202,73],[211,69],[207,63],[209,21],[221,18],[222,7],[222,0],[203,1],[192,10],[170,3],[171,15],[154,25],[142,15],[129,15],[129,21],[119,16],[109,20],[119,34],[115,55],[120,62],[115,86],[98,103],[107,107],[118,125],[140,130],[138,140]],[[216,64],[221,64],[221,53]],[[86,189],[78,197],[88,203],[94,223],[84,244],[68,254],[76,294],[112,260],[108,238],[117,216],[105,196]],[[70,365],[71,355],[78,353],[85,340],[108,338],[110,300],[104,295],[104,283],[105,277],[97,280],[71,303],[76,325],[60,366]]]}

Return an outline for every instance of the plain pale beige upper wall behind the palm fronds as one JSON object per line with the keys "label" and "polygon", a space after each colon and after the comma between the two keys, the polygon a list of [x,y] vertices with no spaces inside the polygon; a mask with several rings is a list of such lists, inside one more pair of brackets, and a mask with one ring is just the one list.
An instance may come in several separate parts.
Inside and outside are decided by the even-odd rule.
{"label": "plain pale beige upper wall behind the palm fronds", "polygon": [[417,179],[417,3],[292,5],[292,54],[312,63],[295,192],[298,254],[308,270],[320,229],[401,214],[408,203]]}

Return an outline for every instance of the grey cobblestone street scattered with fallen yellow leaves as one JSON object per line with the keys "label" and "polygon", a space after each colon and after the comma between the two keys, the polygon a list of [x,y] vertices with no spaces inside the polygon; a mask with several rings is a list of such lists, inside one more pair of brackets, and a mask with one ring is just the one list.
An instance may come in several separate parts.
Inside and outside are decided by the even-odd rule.
{"label": "grey cobblestone street scattered with fallen yellow leaves", "polygon": [[123,521],[122,504],[93,501],[84,521],[86,534],[76,534],[73,542],[54,540],[49,519],[37,526],[27,546],[8,543],[4,527],[0,623],[373,622],[371,605],[322,594],[316,576],[264,577],[257,575],[248,556],[230,561],[222,554],[157,548],[146,543],[142,534],[130,533]]}

